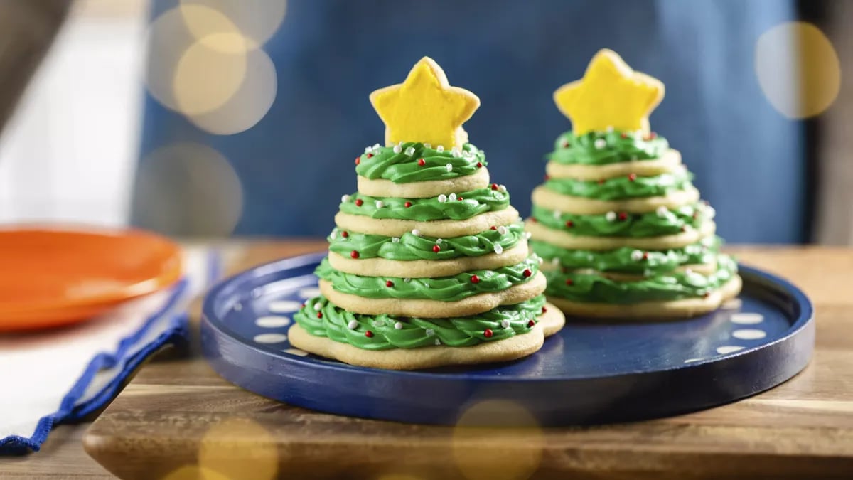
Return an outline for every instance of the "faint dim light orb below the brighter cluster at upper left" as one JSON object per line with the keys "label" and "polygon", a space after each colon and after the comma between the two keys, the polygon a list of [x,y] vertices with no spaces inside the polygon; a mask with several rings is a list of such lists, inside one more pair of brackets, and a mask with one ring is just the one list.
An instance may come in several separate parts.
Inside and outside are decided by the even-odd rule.
{"label": "faint dim light orb below the brighter cluster at upper left", "polygon": [[135,214],[144,228],[175,236],[223,236],[234,231],[242,211],[240,179],[207,145],[172,143],[140,162]]}

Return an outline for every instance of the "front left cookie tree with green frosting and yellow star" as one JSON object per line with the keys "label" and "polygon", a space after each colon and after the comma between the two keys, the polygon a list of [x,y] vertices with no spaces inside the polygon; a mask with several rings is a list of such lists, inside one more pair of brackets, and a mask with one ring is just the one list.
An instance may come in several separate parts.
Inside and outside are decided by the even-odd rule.
{"label": "front left cookie tree with green frosting and yellow star", "polygon": [[385,145],[355,160],[358,191],[341,198],[316,269],[322,295],[294,315],[290,342],[390,369],[536,352],[564,319],[507,189],[462,130],[479,99],[424,58],[370,101]]}

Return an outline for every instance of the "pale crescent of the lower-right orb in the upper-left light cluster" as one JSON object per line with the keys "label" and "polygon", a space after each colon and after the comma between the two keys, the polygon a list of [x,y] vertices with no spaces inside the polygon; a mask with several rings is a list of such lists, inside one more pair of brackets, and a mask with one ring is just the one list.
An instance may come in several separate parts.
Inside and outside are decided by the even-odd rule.
{"label": "pale crescent of the lower-right orb in the upper-left light cluster", "polygon": [[276,66],[264,50],[248,52],[246,63],[247,76],[227,102],[189,115],[195,126],[216,135],[233,135],[252,128],[270,111],[278,91]]}

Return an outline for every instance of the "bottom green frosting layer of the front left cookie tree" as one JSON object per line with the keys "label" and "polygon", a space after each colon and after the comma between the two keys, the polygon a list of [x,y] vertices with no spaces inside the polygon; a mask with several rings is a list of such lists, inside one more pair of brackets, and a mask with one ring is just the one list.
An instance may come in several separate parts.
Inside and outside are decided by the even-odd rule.
{"label": "bottom green frosting layer of the front left cookie tree", "polygon": [[293,319],[310,335],[328,337],[366,350],[430,345],[470,347],[531,331],[531,321],[536,322],[544,304],[545,297],[536,296],[470,317],[418,319],[350,313],[325,297],[316,296],[306,301],[305,307],[293,315]]}

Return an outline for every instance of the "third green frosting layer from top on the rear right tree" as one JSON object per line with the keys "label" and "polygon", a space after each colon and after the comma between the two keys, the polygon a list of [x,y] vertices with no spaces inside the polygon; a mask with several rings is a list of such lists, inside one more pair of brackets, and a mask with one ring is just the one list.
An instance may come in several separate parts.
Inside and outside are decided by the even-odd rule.
{"label": "third green frosting layer from top on the rear right tree", "polygon": [[688,226],[696,228],[712,217],[711,209],[701,203],[647,214],[623,214],[624,220],[619,215],[614,212],[609,219],[607,214],[555,216],[554,210],[537,205],[532,208],[533,218],[548,228],[592,237],[659,237],[678,233]]}

